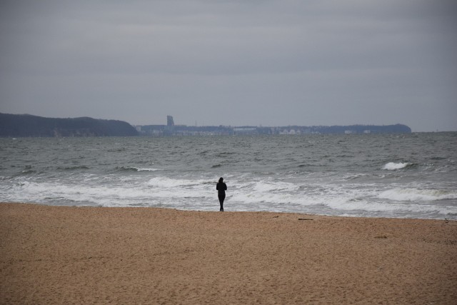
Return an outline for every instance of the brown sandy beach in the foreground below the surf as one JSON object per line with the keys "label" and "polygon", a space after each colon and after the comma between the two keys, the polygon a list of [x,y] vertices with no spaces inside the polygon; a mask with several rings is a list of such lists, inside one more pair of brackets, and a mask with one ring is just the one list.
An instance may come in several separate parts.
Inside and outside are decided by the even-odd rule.
{"label": "brown sandy beach in the foreground below the surf", "polygon": [[457,304],[457,221],[0,204],[0,229],[1,304]]}

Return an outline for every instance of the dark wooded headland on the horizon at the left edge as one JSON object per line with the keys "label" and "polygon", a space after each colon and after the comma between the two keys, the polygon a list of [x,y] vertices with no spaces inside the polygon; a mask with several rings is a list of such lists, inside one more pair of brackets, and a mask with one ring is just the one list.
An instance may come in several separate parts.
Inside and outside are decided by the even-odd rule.
{"label": "dark wooded headland on the horizon at the left edge", "polygon": [[92,119],[54,119],[29,114],[0,114],[0,136],[137,136],[125,121]]}

